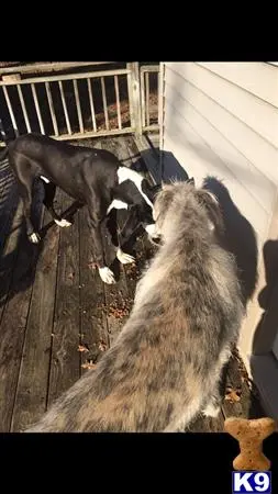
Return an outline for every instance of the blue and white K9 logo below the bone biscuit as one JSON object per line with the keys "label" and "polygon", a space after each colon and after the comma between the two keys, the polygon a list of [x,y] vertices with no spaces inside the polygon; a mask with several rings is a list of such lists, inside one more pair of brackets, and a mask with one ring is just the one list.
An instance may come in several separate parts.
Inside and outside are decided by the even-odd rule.
{"label": "blue and white K9 logo below the bone biscuit", "polygon": [[232,472],[233,494],[271,493],[271,472]]}

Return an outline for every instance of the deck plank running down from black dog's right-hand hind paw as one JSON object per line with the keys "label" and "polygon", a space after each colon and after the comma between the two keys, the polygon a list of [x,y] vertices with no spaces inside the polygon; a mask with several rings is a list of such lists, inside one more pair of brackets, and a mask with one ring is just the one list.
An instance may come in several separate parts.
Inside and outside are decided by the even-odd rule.
{"label": "deck plank running down from black dog's right-hand hind paw", "polygon": [[[44,226],[52,223],[47,211]],[[49,378],[59,231],[53,225],[42,239],[23,346],[12,431],[24,429],[46,409]]]}

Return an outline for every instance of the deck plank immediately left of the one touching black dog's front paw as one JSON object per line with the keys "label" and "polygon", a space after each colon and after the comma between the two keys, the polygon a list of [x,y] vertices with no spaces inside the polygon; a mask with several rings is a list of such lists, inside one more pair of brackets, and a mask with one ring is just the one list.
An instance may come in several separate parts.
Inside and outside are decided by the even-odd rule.
{"label": "deck plank immediately left of the one touching black dog's front paw", "polygon": [[[63,211],[71,203],[63,193]],[[71,226],[60,228],[47,407],[80,377],[78,220],[76,214]]]}

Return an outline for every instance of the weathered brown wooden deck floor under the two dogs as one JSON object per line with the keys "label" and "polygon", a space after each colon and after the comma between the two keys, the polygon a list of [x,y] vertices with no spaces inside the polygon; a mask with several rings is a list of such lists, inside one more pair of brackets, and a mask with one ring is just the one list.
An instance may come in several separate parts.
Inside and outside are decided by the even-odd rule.
{"label": "weathered brown wooden deck floor under the two dogs", "polygon": [[[142,164],[131,136],[90,143],[112,150],[126,165]],[[153,254],[146,237],[138,238],[134,246],[136,268],[114,263],[119,282],[105,285],[93,269],[86,210],[79,210],[74,225],[63,229],[51,222],[42,207],[41,187],[36,188],[35,197],[35,220],[41,222],[45,235],[40,246],[26,239],[16,187],[8,162],[2,161],[0,431],[19,431],[37,419],[98,361],[126,321],[136,279]],[[65,211],[70,203],[69,198],[57,191],[57,210]],[[108,255],[112,261],[110,247]],[[199,418],[190,430],[222,431],[226,416],[262,416],[236,355],[229,366],[227,386],[221,416]]]}

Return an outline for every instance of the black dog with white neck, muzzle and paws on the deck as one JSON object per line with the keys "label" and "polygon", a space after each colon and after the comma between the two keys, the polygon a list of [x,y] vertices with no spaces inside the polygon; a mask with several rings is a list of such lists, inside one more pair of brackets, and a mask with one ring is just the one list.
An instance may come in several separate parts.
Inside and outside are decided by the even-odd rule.
{"label": "black dog with white neck, muzzle and paws on the deck", "polygon": [[[114,283],[114,274],[105,265],[101,244],[101,223],[113,215],[110,229],[116,258],[122,263],[133,262],[121,246],[142,224],[152,239],[154,232],[153,202],[158,186],[151,186],[137,171],[124,167],[110,151],[74,146],[54,138],[26,134],[7,145],[0,159],[9,157],[10,166],[19,183],[23,201],[26,233],[32,243],[40,242],[31,220],[32,188],[41,178],[45,188],[44,204],[59,226],[69,226],[67,220],[54,211],[56,187],[63,189],[76,203],[87,205],[88,223],[92,235],[94,259],[103,282]],[[116,210],[127,210],[127,221],[120,235],[116,234]]]}

